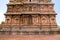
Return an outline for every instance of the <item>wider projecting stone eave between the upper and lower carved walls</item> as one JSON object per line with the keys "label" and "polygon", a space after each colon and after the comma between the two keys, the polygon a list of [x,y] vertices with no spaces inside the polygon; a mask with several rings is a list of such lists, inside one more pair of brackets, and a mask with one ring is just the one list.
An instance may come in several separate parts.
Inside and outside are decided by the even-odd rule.
{"label": "wider projecting stone eave between the upper and lower carved walls", "polygon": [[57,13],[54,13],[54,12],[8,12],[8,13],[5,13],[4,15],[21,15],[21,14],[57,15]]}

